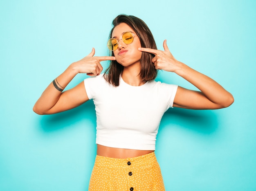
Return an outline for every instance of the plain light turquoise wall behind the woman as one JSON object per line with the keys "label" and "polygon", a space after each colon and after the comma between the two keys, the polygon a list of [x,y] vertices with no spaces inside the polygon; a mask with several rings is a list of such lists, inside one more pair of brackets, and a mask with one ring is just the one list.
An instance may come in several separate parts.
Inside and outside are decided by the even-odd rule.
{"label": "plain light turquoise wall behind the woman", "polygon": [[[163,50],[235,98],[222,110],[170,109],[157,136],[166,190],[256,190],[256,1],[1,0],[0,190],[86,191],[96,154],[92,101],[39,116],[32,107],[73,61],[107,54],[112,19],[143,19]],[[106,68],[107,63],[102,63]],[[68,88],[86,75],[77,75]],[[158,80],[195,89],[173,73]]]}

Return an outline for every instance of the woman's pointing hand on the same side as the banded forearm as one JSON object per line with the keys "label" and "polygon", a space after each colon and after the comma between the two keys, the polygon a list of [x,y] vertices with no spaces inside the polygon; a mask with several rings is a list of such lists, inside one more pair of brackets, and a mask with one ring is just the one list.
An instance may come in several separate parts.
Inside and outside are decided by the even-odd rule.
{"label": "woman's pointing hand on the same side as the banded forearm", "polygon": [[103,70],[103,67],[100,64],[101,61],[115,60],[114,56],[94,57],[94,54],[95,49],[92,48],[92,52],[88,56],[72,63],[70,66],[73,70],[76,70],[77,73],[86,73],[89,76],[96,76]]}

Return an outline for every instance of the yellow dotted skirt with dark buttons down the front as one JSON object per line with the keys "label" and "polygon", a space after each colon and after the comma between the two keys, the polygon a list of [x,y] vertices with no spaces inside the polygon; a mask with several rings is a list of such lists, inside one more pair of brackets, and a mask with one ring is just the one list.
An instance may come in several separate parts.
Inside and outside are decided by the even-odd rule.
{"label": "yellow dotted skirt with dark buttons down the front", "polygon": [[155,153],[126,159],[97,155],[89,191],[165,191]]}

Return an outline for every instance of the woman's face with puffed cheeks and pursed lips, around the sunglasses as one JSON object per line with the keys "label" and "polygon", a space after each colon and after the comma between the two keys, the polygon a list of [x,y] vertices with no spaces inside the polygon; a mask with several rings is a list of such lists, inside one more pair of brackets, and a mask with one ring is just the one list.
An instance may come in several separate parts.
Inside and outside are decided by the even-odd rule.
{"label": "woman's face with puffed cheeks and pursed lips, around the sunglasses", "polygon": [[[132,30],[130,26],[128,26],[128,24],[121,23],[114,28],[112,32],[112,38],[116,38],[117,40],[119,40],[122,38],[122,35],[127,31],[136,34],[135,31]],[[133,42],[131,44],[125,44],[123,40],[119,40],[118,43],[119,44],[117,50],[114,50],[114,55],[117,62],[124,67],[134,64],[140,65],[142,53],[138,50],[138,48],[141,47],[139,37],[137,35],[134,35]]]}

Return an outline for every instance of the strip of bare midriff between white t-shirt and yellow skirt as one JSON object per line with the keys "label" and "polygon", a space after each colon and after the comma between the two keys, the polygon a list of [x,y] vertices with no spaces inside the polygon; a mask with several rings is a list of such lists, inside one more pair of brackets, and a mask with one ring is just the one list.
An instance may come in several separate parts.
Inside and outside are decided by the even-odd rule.
{"label": "strip of bare midriff between white t-shirt and yellow skirt", "polygon": [[132,158],[154,152],[154,150],[120,149],[97,145],[97,155],[111,158]]}

